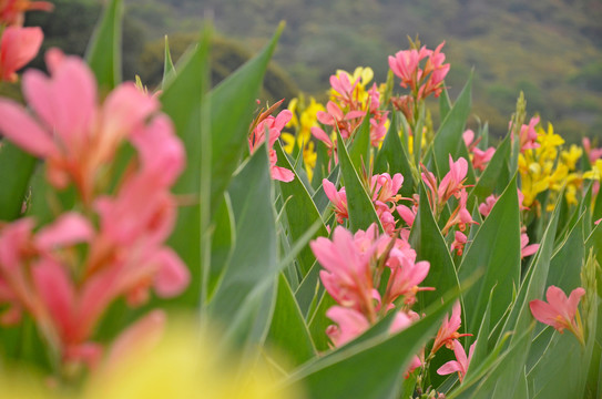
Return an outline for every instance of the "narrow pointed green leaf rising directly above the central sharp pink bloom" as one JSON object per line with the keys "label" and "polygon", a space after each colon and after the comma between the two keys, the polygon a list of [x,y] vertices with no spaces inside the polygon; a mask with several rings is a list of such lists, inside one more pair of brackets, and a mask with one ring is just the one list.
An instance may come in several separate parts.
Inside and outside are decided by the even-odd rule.
{"label": "narrow pointed green leaf rising directly above the central sharp pink bloom", "polygon": [[340,165],[340,173],[345,182],[345,193],[347,194],[347,207],[349,211],[349,224],[353,232],[358,229],[367,229],[373,223],[377,223],[382,232],[382,226],[378,219],[378,215],[373,205],[373,201],[361,181],[357,171],[349,158],[347,149],[343,144],[343,137],[340,133],[337,132],[337,143],[338,144],[338,162]]}

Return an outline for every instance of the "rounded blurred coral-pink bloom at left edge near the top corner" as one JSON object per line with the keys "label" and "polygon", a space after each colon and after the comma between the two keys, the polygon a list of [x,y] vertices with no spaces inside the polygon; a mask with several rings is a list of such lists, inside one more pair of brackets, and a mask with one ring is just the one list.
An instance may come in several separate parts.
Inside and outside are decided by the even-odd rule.
{"label": "rounded blurred coral-pink bloom at left edge near the top corner", "polygon": [[8,27],[0,40],[0,82],[17,82],[17,71],[33,60],[44,34],[38,27]]}

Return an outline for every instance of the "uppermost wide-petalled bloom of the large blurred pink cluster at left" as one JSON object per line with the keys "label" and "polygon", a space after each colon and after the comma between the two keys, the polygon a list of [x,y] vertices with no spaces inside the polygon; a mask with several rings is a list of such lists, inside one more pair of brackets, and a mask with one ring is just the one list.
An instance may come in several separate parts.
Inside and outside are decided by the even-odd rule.
{"label": "uppermost wide-petalled bloom of the large blurred pink cluster at left", "polygon": [[47,65],[50,78],[37,70],[23,74],[23,94],[37,117],[10,100],[0,100],[0,131],[48,161],[52,185],[64,188],[72,182],[90,203],[96,174],[119,144],[159,109],[159,102],[133,83],[123,83],[99,108],[96,83],[83,60],[52,49]]}

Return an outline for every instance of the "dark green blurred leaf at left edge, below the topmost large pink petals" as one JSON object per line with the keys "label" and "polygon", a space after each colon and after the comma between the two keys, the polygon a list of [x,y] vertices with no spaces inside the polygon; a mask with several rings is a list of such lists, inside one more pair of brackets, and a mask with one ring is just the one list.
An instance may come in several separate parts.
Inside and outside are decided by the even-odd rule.
{"label": "dark green blurred leaf at left edge, below the topmost large pink petals", "polygon": [[0,143],[0,221],[14,221],[21,214],[35,163],[34,156],[14,144]]}

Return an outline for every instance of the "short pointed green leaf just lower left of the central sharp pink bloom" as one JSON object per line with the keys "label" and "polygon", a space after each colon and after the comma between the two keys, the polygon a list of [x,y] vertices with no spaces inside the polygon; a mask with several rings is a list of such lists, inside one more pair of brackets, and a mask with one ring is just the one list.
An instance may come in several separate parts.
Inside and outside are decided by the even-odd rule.
{"label": "short pointed green leaf just lower left of the central sharp pink bloom", "polygon": [[272,316],[267,342],[275,345],[286,354],[287,360],[294,366],[298,366],[316,356],[316,349],[309,337],[305,319],[288,282],[282,274],[278,278],[276,306]]}

